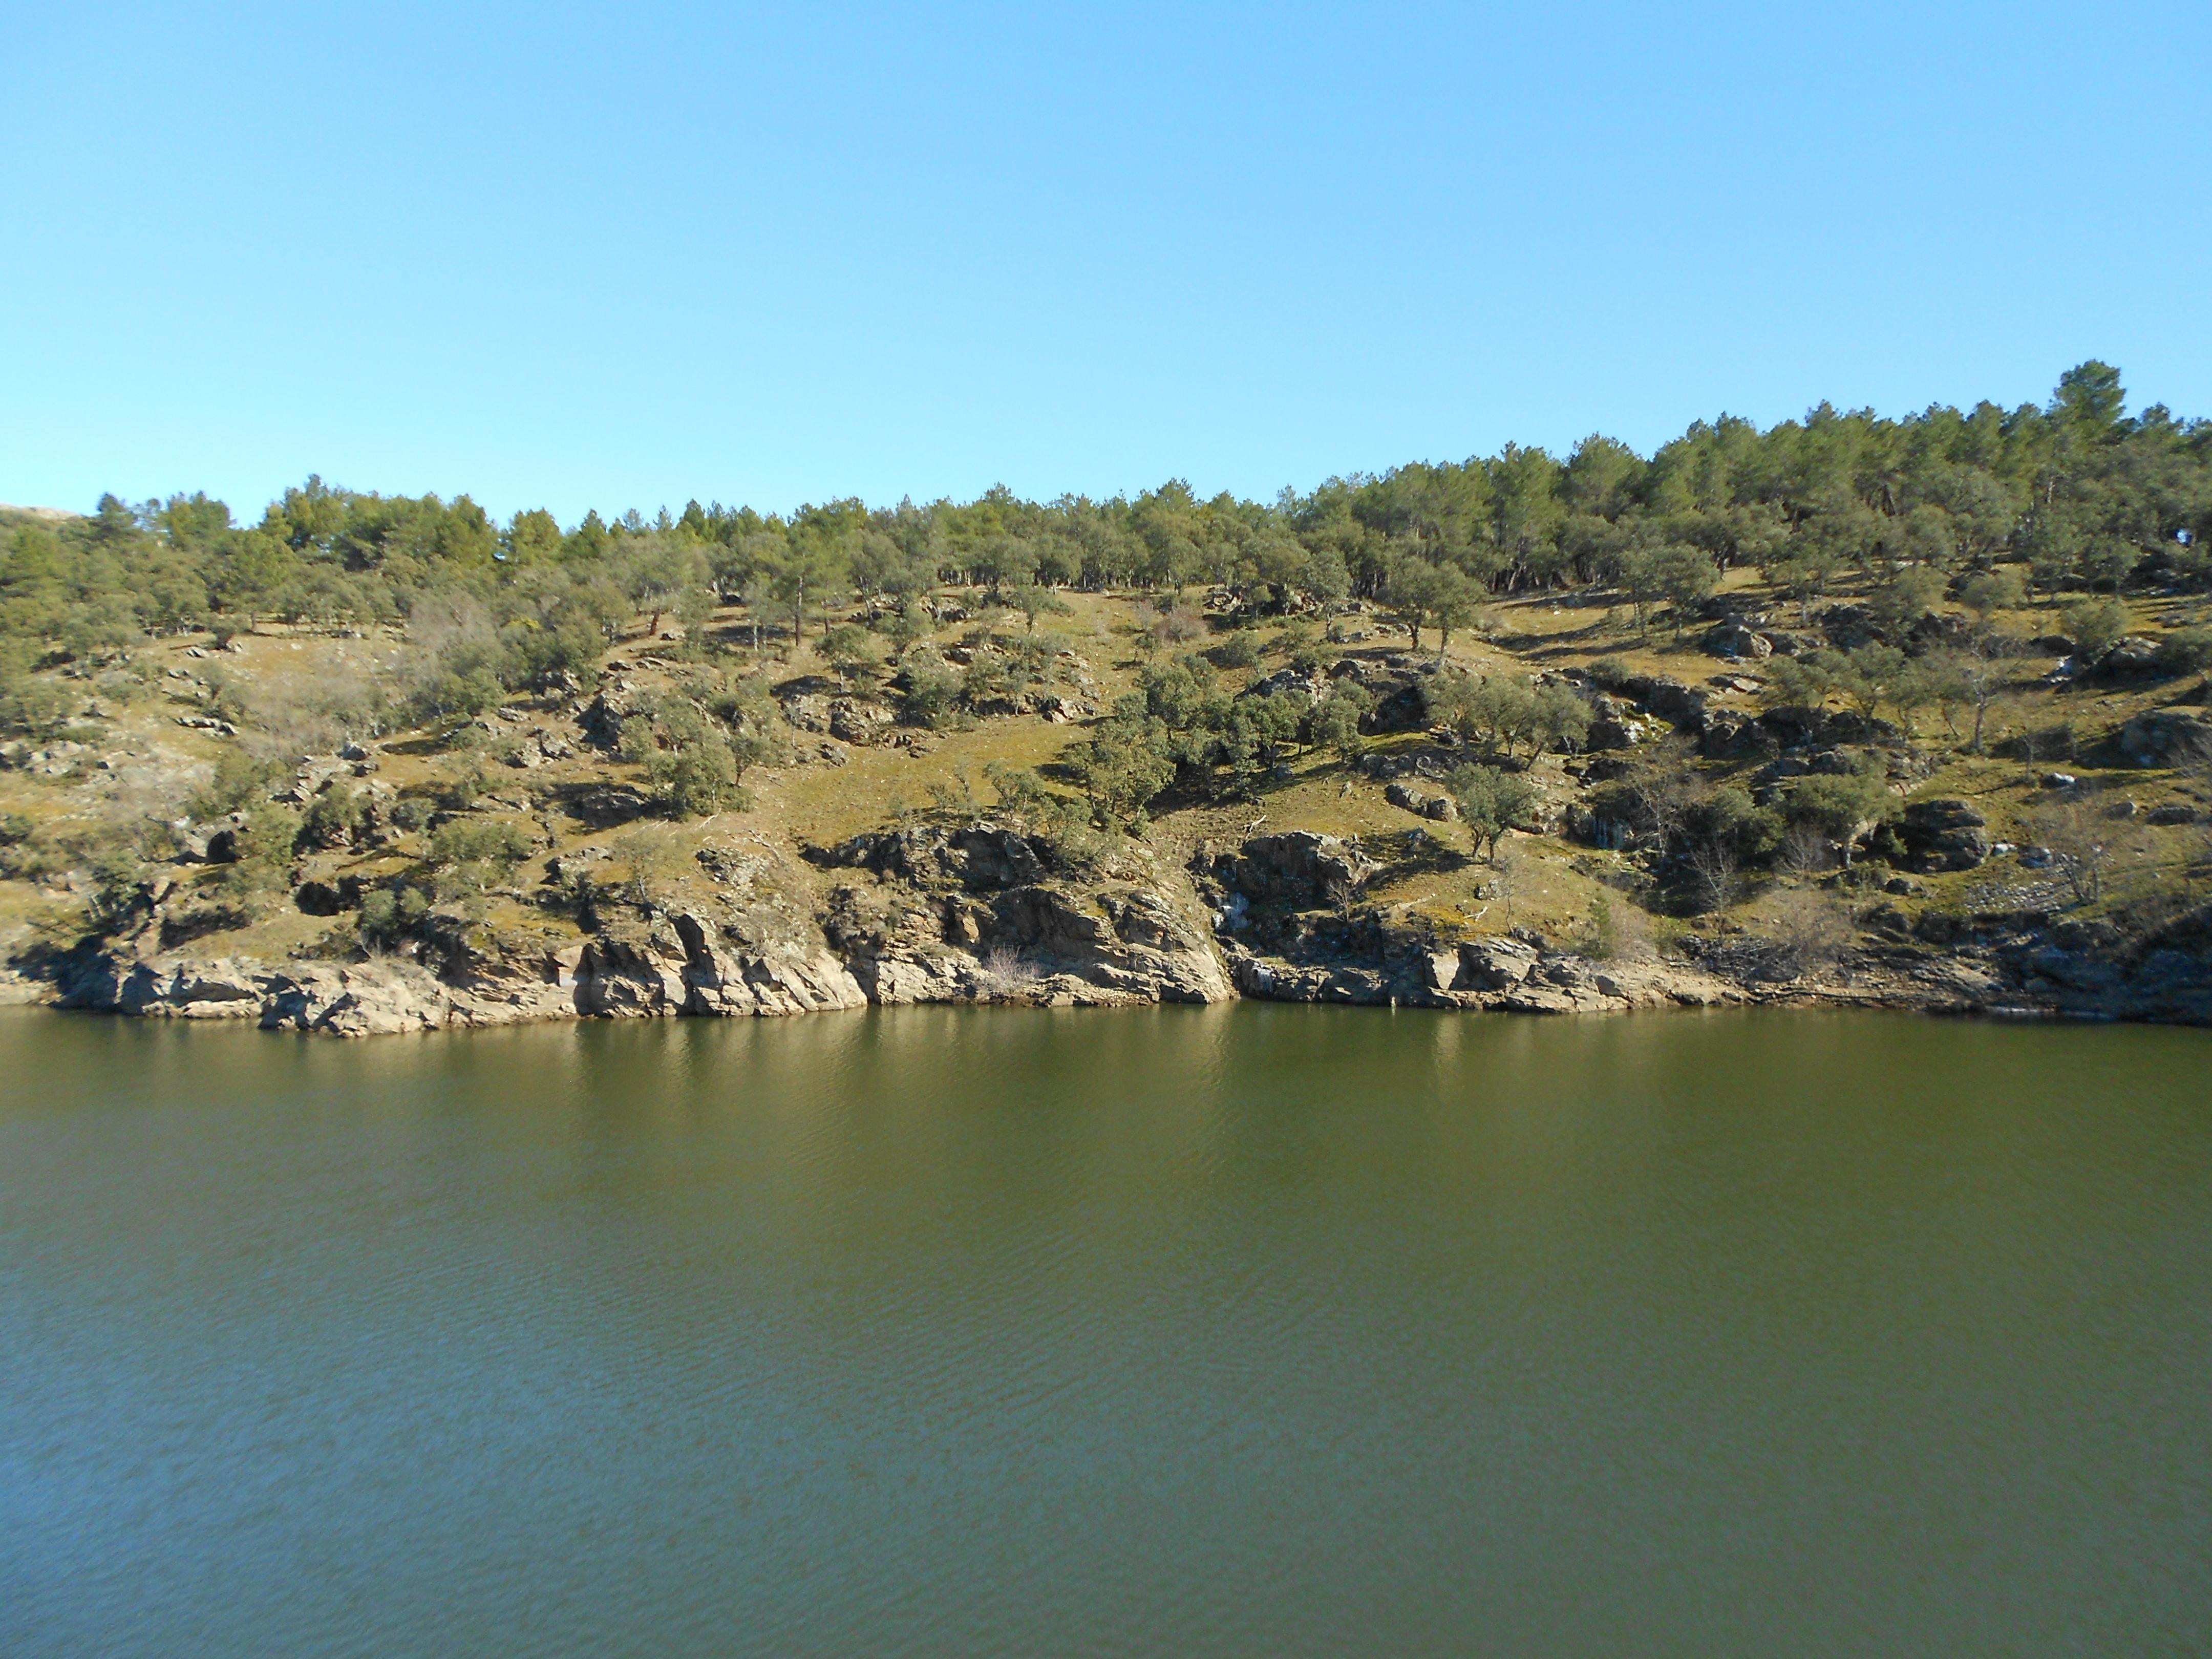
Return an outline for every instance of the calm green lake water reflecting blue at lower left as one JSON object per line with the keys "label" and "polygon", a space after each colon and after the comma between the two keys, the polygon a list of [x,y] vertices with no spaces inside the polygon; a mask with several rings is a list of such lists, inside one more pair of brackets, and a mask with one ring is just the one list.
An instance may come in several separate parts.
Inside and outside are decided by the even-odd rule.
{"label": "calm green lake water reflecting blue at lower left", "polygon": [[0,1011],[0,1652],[2203,1652],[2208,1062]]}

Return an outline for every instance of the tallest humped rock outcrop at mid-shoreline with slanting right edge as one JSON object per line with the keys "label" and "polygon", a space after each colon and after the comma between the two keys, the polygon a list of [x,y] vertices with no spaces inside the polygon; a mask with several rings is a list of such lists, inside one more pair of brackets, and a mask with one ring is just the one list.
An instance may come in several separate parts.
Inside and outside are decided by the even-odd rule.
{"label": "tallest humped rock outcrop at mid-shoreline with slanting right edge", "polygon": [[1002,825],[914,827],[814,847],[869,872],[832,894],[832,947],[869,1002],[1223,1002],[1203,929],[1159,880],[1075,878]]}

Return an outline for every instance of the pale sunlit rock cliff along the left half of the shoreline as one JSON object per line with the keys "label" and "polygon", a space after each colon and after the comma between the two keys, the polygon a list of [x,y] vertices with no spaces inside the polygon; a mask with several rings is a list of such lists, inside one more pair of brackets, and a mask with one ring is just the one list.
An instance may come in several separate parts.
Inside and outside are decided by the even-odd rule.
{"label": "pale sunlit rock cliff along the left half of the shoreline", "polygon": [[[522,1020],[785,1015],[869,1002],[1106,1006],[1237,995],[1188,887],[1141,854],[1068,869],[1015,827],[909,827],[810,849],[838,880],[816,916],[759,858],[708,858],[721,902],[608,905],[566,947],[515,951],[427,929],[414,958],[285,962],[102,951],[60,1002],[173,1020],[257,1020],[343,1037]],[[781,900],[781,902],[774,902]],[[438,920],[438,918],[434,918]]]}

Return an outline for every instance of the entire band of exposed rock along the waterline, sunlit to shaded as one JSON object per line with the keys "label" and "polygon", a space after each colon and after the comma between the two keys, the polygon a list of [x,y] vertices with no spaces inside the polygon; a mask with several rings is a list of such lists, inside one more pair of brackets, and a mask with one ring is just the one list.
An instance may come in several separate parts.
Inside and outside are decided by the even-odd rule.
{"label": "entire band of exposed rock along the waterline, sunlit to shaded", "polygon": [[[1982,834],[1958,803],[1907,823],[1940,867]],[[1018,823],[922,823],[792,860],[701,854],[688,902],[608,905],[580,940],[515,949],[453,922],[416,956],[356,962],[195,958],[139,945],[64,964],[62,1006],[254,1020],[276,1031],[383,1035],[573,1018],[787,1015],[867,1004],[1338,1002],[1506,1013],[1619,1013],[1730,1002],[1878,1004],[2011,1018],[2212,1020],[2212,969],[2190,916],[2121,951],[2035,914],[1867,918],[1829,971],[1754,942],[1604,960],[1528,929],[1453,936],[1367,902],[1378,865],[1318,832],[1201,845],[1183,872],[1128,847],[1073,863]],[[776,865],[783,865],[779,874]],[[560,874],[560,872],[553,872]],[[438,922],[440,918],[431,918]]]}

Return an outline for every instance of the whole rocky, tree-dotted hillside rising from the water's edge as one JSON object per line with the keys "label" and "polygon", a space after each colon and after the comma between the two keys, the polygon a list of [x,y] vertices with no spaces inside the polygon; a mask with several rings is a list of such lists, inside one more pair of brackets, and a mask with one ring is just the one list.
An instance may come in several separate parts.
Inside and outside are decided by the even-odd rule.
{"label": "whole rocky, tree-dotted hillside rising from the water's edge", "polygon": [[1896,491],[1661,511],[1644,476],[1562,511],[1542,575],[1506,487],[1478,546],[1440,469],[1119,529],[498,531],[319,484],[257,531],[201,498],[18,520],[0,949],[18,998],[330,1031],[1225,995],[2203,1020],[2205,442],[2159,442],[2199,469],[2163,546],[2059,568],[2026,489],[1969,533]]}

